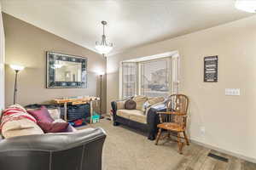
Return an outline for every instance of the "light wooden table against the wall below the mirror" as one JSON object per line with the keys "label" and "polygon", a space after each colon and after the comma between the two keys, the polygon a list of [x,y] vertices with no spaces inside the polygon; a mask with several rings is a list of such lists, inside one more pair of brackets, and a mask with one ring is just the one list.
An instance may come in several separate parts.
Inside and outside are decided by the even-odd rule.
{"label": "light wooden table against the wall below the mirror", "polygon": [[93,107],[92,107],[92,102],[93,101],[99,101],[100,98],[97,97],[73,97],[73,98],[60,98],[60,99],[53,99],[53,102],[55,104],[63,104],[64,105],[64,120],[67,122],[67,103],[71,103],[72,105],[82,105],[89,103],[90,104],[90,123],[92,123],[92,114],[93,114]]}

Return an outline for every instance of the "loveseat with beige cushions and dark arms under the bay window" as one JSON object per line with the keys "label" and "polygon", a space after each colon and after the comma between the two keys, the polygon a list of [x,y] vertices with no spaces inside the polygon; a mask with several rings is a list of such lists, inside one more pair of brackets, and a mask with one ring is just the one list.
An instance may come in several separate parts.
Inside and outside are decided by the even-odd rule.
{"label": "loveseat with beige cushions and dark arms under the bay window", "polygon": [[135,127],[149,133],[148,139],[154,139],[156,133],[156,125],[158,123],[157,111],[165,111],[165,98],[163,97],[146,97],[135,96],[136,102],[134,110],[125,109],[125,100],[113,101],[113,125],[118,126],[119,123]]}

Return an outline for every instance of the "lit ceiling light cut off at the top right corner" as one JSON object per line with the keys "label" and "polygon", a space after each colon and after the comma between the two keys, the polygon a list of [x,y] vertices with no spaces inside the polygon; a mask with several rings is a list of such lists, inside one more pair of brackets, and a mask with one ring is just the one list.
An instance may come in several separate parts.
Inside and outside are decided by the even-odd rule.
{"label": "lit ceiling light cut off at the top right corner", "polygon": [[235,6],[247,13],[256,13],[256,0],[236,0]]}

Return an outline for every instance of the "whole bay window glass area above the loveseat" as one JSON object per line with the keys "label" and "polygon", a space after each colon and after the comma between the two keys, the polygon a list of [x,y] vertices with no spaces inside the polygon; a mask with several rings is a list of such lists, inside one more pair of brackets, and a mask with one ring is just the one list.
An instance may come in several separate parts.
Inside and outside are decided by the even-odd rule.
{"label": "whole bay window glass area above the loveseat", "polygon": [[121,63],[121,88],[123,99],[135,94],[148,97],[171,94],[172,58]]}

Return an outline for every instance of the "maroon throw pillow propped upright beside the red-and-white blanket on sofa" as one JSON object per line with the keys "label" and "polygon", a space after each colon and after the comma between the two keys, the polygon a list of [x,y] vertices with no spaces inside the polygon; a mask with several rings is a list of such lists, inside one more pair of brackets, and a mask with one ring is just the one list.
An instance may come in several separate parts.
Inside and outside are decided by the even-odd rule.
{"label": "maroon throw pillow propped upright beside the red-and-white blanket on sofa", "polygon": [[43,105],[39,110],[27,111],[30,115],[35,117],[39,122],[54,122],[55,120],[49,115],[49,111]]}

